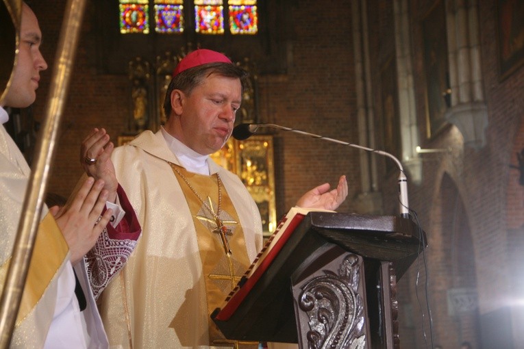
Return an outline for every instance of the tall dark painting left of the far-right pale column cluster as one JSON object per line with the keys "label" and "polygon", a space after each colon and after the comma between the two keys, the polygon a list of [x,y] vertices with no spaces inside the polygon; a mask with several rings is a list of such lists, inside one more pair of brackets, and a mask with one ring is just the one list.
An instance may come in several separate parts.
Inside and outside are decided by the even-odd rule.
{"label": "tall dark painting left of the far-right pale column cluster", "polygon": [[439,1],[423,19],[422,31],[426,131],[427,138],[431,138],[446,125],[445,113],[451,107],[444,1]]}

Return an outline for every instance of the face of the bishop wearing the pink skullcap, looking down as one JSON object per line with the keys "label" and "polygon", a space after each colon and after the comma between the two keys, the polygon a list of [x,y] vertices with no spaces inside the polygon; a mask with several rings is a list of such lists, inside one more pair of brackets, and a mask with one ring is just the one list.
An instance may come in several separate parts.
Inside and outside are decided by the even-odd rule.
{"label": "face of the bishop wearing the pink skullcap, looking down", "polygon": [[242,101],[240,79],[212,74],[192,92],[179,93],[175,137],[202,155],[219,151],[233,131]]}

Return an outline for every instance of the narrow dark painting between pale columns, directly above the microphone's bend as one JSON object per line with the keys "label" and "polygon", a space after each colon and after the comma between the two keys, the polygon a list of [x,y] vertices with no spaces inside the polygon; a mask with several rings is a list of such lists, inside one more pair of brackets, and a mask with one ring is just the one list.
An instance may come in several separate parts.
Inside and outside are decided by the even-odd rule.
{"label": "narrow dark painting between pale columns, directly above the microphone's bend", "polygon": [[[384,150],[395,157],[401,155],[401,135],[399,117],[399,97],[397,82],[397,64],[395,57],[390,57],[380,73],[382,130],[384,132]],[[386,161],[386,170],[397,168],[392,161]]]}

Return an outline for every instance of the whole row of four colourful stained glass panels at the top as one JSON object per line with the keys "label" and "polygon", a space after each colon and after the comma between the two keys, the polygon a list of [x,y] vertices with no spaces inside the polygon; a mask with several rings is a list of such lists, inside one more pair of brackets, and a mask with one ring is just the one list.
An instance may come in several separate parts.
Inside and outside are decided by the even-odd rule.
{"label": "whole row of four colourful stained glass panels at the top", "polygon": [[254,35],[257,0],[118,0],[121,34]]}

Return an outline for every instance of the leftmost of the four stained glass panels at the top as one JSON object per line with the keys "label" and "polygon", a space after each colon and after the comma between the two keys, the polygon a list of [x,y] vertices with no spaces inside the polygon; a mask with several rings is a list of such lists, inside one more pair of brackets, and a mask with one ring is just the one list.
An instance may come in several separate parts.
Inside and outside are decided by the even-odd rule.
{"label": "leftmost of the four stained glass panels at the top", "polygon": [[148,0],[120,0],[120,32],[149,33]]}

